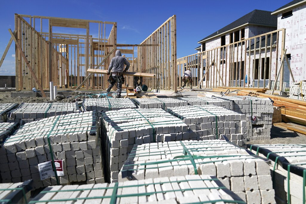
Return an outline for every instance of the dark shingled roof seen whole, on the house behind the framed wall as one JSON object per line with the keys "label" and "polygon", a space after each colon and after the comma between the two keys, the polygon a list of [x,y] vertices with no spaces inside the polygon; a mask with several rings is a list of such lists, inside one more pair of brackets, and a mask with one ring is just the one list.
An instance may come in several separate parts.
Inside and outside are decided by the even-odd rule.
{"label": "dark shingled roof seen whole, on the house behind the framed wall", "polygon": [[277,27],[277,16],[271,15],[271,11],[263,11],[263,10],[253,10],[252,12],[244,15],[243,17],[235,20],[233,23],[228,24],[227,26],[221,28],[220,30],[214,32],[211,35],[201,39],[198,43],[203,40],[214,37],[215,35],[220,35],[226,31],[229,31],[233,28],[237,28],[243,24],[262,24],[267,26],[275,26]]}

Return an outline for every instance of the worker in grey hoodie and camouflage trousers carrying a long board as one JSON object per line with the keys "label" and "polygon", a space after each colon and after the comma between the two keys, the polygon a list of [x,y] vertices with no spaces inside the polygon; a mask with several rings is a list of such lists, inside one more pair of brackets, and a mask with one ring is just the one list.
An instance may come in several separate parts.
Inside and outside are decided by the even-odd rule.
{"label": "worker in grey hoodie and camouflage trousers carrying a long board", "polygon": [[[124,65],[126,65],[124,69]],[[121,97],[122,91],[122,83],[124,83],[124,77],[122,72],[126,72],[130,67],[129,61],[125,59],[125,57],[121,56],[121,51],[117,50],[115,57],[110,61],[110,65],[108,66],[107,74],[111,74],[108,82],[110,83],[106,92],[109,93],[110,89],[113,88],[115,83],[117,82],[117,98]]]}

